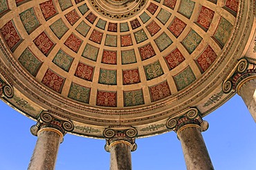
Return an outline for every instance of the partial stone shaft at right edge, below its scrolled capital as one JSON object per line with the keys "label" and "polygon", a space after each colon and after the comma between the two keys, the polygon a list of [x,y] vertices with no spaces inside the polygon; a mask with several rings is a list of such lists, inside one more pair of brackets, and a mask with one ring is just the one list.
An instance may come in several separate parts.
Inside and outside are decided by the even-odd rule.
{"label": "partial stone shaft at right edge, below its scrolled capital", "polygon": [[238,93],[243,98],[256,123],[256,79],[246,81],[246,83],[241,85]]}

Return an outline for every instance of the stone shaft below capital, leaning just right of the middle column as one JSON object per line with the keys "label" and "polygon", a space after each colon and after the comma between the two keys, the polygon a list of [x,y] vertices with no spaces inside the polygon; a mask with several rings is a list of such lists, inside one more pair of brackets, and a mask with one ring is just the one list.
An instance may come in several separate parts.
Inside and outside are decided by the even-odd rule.
{"label": "stone shaft below capital, leaning just right of the middle column", "polygon": [[177,131],[177,135],[181,140],[188,170],[214,169],[199,125],[184,125]]}

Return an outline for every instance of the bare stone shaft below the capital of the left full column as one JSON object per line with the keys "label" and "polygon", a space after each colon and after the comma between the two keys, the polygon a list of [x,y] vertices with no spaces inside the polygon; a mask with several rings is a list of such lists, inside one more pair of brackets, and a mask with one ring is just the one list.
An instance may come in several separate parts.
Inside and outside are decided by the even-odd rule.
{"label": "bare stone shaft below the capital of the left full column", "polygon": [[41,129],[37,134],[37,144],[28,165],[28,170],[53,170],[57,152],[62,140],[61,132],[56,129]]}

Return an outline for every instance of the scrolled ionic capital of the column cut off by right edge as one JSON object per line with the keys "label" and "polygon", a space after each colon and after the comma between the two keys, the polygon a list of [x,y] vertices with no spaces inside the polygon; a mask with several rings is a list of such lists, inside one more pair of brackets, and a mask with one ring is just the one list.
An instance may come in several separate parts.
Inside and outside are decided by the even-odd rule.
{"label": "scrolled ionic capital of the column cut off by right edge", "polygon": [[[224,93],[234,90],[239,94],[239,89],[244,83],[256,78],[256,64],[248,59],[240,59],[234,70],[229,74],[222,84]],[[240,95],[240,94],[239,94]]]}

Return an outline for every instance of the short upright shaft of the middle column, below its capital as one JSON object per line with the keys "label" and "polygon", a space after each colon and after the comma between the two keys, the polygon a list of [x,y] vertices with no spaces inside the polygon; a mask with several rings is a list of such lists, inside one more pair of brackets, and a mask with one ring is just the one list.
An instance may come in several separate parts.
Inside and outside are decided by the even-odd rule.
{"label": "short upright shaft of the middle column, below its capital", "polygon": [[118,141],[110,148],[110,170],[131,170],[131,145]]}

